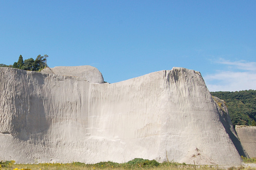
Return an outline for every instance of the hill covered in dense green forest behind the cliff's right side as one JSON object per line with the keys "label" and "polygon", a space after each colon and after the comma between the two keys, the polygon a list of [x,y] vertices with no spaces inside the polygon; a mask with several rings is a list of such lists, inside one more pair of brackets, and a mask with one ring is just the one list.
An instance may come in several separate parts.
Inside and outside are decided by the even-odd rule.
{"label": "hill covered in dense green forest behind the cliff's right side", "polygon": [[233,125],[256,126],[256,90],[210,93],[225,101]]}

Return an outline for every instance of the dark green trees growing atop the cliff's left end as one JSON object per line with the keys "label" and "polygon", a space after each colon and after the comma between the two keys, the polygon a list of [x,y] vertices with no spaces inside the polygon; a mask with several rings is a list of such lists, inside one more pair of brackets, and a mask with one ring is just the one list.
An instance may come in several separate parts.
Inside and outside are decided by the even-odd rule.
{"label": "dark green trees growing atop the cliff's left end", "polygon": [[28,71],[41,71],[47,66],[47,57],[48,55],[38,55],[35,60],[33,58],[29,58],[23,61],[23,57],[20,55],[18,62],[14,62],[13,65],[0,64],[0,67],[12,67]]}

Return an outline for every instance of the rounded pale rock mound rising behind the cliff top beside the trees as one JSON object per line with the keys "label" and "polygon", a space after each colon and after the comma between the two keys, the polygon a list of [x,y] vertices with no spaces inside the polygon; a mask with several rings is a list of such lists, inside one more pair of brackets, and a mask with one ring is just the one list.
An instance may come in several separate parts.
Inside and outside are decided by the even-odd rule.
{"label": "rounded pale rock mound rising behind the cliff top beside the trees", "polygon": [[92,67],[90,65],[58,66],[53,68],[46,67],[41,71],[41,73],[85,77],[90,83],[104,83],[104,79],[100,71],[96,67]]}

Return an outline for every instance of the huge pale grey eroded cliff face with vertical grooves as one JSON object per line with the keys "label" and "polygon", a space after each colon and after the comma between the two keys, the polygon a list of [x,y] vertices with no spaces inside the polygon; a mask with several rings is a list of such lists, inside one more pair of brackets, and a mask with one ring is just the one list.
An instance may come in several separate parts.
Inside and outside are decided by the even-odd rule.
{"label": "huge pale grey eroded cliff face with vertical grooves", "polygon": [[0,91],[0,160],[242,162],[197,71],[94,84],[0,67]]}

